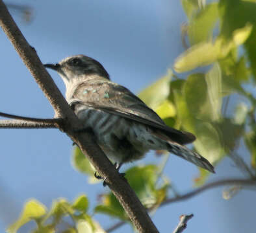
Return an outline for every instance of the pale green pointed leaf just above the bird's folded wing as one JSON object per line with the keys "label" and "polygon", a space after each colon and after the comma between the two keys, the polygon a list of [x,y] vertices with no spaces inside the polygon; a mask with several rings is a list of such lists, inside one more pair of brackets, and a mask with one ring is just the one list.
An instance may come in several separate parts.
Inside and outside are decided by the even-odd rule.
{"label": "pale green pointed leaf just above the bird's folded wing", "polygon": [[166,74],[166,76],[149,85],[149,87],[146,87],[146,89],[138,94],[138,97],[152,109],[159,107],[159,105],[166,100],[170,93],[171,79],[172,71],[168,70],[168,74]]}

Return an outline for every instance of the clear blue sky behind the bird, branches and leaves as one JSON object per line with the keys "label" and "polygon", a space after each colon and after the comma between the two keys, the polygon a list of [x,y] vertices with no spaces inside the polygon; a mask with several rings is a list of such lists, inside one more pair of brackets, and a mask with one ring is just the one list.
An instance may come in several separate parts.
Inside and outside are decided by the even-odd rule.
{"label": "clear blue sky behind the bird, branches and leaves", "polygon": [[[172,67],[183,52],[181,23],[186,16],[179,1],[75,0],[5,1],[31,6],[31,23],[15,10],[10,13],[43,63],[66,56],[86,54],[107,69],[114,82],[138,93]],[[18,54],[0,31],[0,111],[27,117],[51,118],[53,109]],[[64,83],[50,71],[64,93]],[[85,193],[90,207],[107,192],[102,184],[88,184],[86,176],[71,165],[71,140],[57,129],[1,129],[0,232],[15,221],[23,203],[34,197],[46,206],[54,199],[72,201]],[[244,153],[245,159],[248,154]],[[153,153],[136,164],[155,161]],[[122,169],[126,169],[124,166]],[[191,190],[198,175],[196,166],[172,156],[165,169],[182,193]],[[241,177],[229,159],[216,168],[210,181]],[[214,188],[187,201],[157,210],[153,221],[160,232],[170,232],[181,214],[194,214],[186,232],[253,232],[255,192],[243,190],[233,199],[222,198],[223,188]],[[102,227],[114,221],[97,214]],[[21,228],[27,232],[31,225]],[[129,225],[116,230],[133,232]]]}

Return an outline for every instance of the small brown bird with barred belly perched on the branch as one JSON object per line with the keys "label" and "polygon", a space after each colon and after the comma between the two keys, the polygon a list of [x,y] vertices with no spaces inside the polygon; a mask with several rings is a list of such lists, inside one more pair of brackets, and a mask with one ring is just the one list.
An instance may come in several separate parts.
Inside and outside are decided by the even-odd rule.
{"label": "small brown bird with barred belly perched on the branch", "polygon": [[60,74],[66,85],[66,100],[84,128],[91,128],[97,144],[118,164],[144,157],[149,150],[168,150],[201,168],[214,172],[204,157],[184,146],[192,133],[166,126],[152,109],[122,85],[111,82],[98,61],[84,55],[45,64]]}

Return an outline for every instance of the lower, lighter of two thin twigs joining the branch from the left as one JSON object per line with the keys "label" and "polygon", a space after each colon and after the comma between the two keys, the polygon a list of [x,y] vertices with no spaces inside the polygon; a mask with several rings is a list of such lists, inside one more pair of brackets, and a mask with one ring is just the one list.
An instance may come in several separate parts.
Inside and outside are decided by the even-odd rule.
{"label": "lower, lighter of two thin twigs joining the branch from the left", "polygon": [[57,128],[54,123],[47,122],[29,122],[25,120],[0,120],[1,129],[51,129]]}

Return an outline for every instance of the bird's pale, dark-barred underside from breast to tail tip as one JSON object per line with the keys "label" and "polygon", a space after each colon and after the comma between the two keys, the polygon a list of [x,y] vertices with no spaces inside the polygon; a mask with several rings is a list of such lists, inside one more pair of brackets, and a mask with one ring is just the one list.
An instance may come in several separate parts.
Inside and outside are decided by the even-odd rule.
{"label": "bird's pale, dark-barred underside from breast to tail tip", "polygon": [[77,116],[84,120],[85,128],[92,128],[97,142],[106,155],[116,162],[129,162],[140,159],[148,150],[168,150],[171,153],[214,172],[207,159],[173,142],[160,131],[93,108],[77,106]]}

